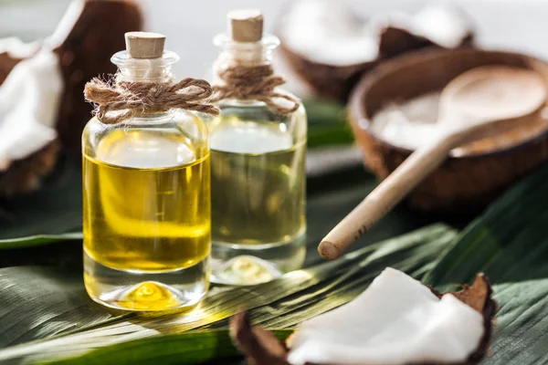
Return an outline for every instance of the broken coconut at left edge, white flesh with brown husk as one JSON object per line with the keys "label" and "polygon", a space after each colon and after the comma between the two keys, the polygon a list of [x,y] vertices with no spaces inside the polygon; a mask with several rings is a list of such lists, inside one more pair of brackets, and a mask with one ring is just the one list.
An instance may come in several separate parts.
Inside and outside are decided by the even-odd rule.
{"label": "broken coconut at left edge, white flesh with brown husk", "polygon": [[141,27],[131,0],[78,0],[45,40],[0,40],[0,196],[39,186],[61,144],[79,150],[92,110],[82,98],[85,82],[113,73],[122,35]]}

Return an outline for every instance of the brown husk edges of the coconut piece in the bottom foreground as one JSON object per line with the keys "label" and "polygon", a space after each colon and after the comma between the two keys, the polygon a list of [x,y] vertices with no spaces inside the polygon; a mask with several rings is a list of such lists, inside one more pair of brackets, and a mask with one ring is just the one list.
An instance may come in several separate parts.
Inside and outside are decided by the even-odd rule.
{"label": "brown husk edges of the coconut piece in the bottom foreground", "polygon": [[[436,289],[430,287],[430,290],[437,297],[442,297],[442,294]],[[484,274],[478,274],[470,287],[463,286],[460,291],[444,294],[454,295],[458,300],[478,311],[484,318],[485,332],[479,340],[478,348],[469,355],[466,361],[449,364],[476,365],[487,355],[489,350],[492,324],[497,308],[497,304],[492,298],[489,279]],[[269,330],[252,326],[247,311],[240,312],[230,319],[230,336],[237,348],[246,355],[249,365],[290,365],[287,361],[289,353],[287,346],[280,342]],[[307,363],[307,365],[317,364]],[[438,364],[420,363],[413,365]]]}

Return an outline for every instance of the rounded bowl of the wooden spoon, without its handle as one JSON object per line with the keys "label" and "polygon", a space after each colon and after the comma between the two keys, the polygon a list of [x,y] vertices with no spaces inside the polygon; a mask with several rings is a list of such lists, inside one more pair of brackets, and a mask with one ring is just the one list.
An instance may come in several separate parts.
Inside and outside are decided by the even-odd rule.
{"label": "rounded bowl of the wooden spoon, without its handle", "polygon": [[547,98],[542,76],[504,66],[472,68],[449,82],[439,100],[437,127],[462,141],[478,141],[529,121]]}

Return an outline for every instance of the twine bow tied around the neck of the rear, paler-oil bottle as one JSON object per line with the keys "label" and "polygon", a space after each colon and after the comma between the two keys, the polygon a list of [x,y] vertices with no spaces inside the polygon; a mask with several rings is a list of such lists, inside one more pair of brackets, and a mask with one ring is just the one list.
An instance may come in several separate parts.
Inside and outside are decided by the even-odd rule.
{"label": "twine bow tied around the neck of the rear, paler-oil bottle", "polygon": [[[299,109],[299,99],[274,91],[275,88],[285,84],[285,79],[275,76],[270,65],[231,66],[221,70],[218,76],[224,84],[213,87],[215,100],[259,100],[281,114],[289,114]],[[289,100],[291,105],[285,107],[276,99]]]}

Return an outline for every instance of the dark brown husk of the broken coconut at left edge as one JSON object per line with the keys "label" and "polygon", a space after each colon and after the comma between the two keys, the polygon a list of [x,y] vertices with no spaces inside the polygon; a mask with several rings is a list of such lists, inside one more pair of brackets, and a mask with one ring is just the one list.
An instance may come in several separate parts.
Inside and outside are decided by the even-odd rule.
{"label": "dark brown husk of the broken coconut at left edge", "polygon": [[[124,34],[142,29],[142,11],[133,0],[86,0],[67,38],[54,50],[65,89],[56,128],[58,139],[0,172],[0,197],[27,193],[39,186],[55,166],[60,151],[76,152],[92,106],[83,98],[85,83],[113,74],[111,56],[124,48]],[[21,59],[0,54],[0,84]]]}

